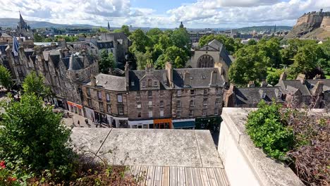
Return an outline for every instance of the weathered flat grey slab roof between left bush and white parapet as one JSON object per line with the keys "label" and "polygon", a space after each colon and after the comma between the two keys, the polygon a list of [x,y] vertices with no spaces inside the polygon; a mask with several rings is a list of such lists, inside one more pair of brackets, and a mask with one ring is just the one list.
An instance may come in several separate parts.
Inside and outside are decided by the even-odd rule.
{"label": "weathered flat grey slab roof between left bush and white parapet", "polygon": [[73,128],[71,138],[114,164],[223,168],[209,130]]}

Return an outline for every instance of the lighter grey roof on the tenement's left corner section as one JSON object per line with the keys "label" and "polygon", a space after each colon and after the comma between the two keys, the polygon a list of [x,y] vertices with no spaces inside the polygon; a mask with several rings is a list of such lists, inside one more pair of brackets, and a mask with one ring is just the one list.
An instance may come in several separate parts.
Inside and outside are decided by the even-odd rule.
{"label": "lighter grey roof on the tenement's left corner section", "polygon": [[[114,91],[126,91],[125,77],[99,73],[96,77],[97,87]],[[91,85],[88,82],[86,85]]]}

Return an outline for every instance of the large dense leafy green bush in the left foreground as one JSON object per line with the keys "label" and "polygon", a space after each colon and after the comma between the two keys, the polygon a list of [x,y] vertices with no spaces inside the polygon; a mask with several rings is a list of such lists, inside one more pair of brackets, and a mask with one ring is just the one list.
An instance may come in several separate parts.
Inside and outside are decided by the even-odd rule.
{"label": "large dense leafy green bush in the left foreground", "polygon": [[[71,131],[61,115],[44,106],[41,98],[27,94],[3,108],[0,125],[0,159],[13,163],[16,171],[71,175],[73,152],[68,148]],[[57,171],[55,171],[57,170]]]}

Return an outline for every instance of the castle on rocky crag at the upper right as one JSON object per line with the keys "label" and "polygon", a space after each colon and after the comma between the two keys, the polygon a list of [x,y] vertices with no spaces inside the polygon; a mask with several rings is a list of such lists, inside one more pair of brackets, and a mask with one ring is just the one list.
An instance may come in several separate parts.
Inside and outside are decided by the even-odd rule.
{"label": "castle on rocky crag at the upper right", "polygon": [[312,11],[305,13],[303,16],[298,18],[295,27],[302,24],[307,24],[312,27],[321,27],[324,30],[330,31],[330,11],[324,12],[323,9],[320,9],[319,12]]}

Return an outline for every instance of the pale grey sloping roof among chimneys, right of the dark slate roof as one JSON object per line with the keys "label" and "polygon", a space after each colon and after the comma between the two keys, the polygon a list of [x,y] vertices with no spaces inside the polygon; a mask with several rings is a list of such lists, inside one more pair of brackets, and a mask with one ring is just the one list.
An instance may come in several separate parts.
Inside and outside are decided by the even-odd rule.
{"label": "pale grey sloping roof among chimneys, right of the dark slate roof", "polygon": [[275,86],[279,86],[283,93],[293,94],[295,89],[299,89],[302,96],[311,95],[310,90],[307,89],[307,86],[302,84],[300,80],[279,80],[279,83]]}

